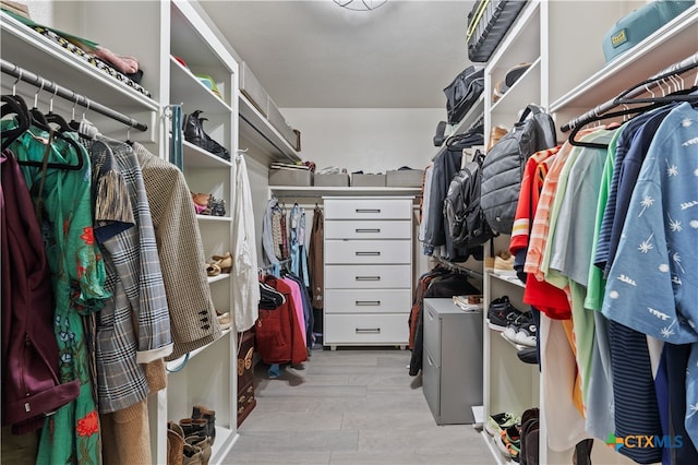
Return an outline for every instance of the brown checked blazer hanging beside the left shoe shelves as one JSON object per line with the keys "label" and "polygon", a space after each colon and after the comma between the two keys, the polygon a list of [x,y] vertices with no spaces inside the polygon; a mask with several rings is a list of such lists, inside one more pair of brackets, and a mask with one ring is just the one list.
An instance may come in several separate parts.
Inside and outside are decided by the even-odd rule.
{"label": "brown checked blazer hanging beside the left shoe shelves", "polygon": [[139,143],[160,270],[170,311],[173,360],[221,336],[206,276],[204,246],[184,175]]}

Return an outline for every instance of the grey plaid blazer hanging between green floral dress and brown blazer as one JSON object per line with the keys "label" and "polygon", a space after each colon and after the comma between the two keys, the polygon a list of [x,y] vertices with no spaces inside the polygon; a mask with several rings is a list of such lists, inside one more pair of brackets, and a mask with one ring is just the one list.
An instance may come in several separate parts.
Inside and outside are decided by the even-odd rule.
{"label": "grey plaid blazer hanging between green floral dress and brown blazer", "polygon": [[99,412],[121,410],[148,392],[140,363],[171,353],[170,318],[151,211],[136,156],[128,144],[91,143],[94,234],[105,257],[111,298],[97,313]]}

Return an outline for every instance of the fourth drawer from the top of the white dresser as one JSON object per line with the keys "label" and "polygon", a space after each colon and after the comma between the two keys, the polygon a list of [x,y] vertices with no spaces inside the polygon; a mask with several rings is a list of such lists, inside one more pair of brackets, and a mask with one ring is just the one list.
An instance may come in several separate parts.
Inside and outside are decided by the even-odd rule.
{"label": "fourth drawer from the top of the white dresser", "polygon": [[326,289],[410,289],[412,265],[325,265]]}

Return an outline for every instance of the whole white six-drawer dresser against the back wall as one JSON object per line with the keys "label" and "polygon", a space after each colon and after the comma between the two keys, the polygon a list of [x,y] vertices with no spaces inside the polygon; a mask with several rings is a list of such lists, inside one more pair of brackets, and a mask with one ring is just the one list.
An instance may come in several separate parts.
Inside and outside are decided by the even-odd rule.
{"label": "whole white six-drawer dresser against the back wall", "polygon": [[409,339],[412,196],[324,198],[323,343],[399,345]]}

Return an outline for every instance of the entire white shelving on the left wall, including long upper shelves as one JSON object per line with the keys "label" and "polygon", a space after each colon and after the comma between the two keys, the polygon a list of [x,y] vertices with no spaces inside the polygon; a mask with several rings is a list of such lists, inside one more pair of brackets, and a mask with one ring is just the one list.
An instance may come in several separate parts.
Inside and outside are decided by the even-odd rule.
{"label": "entire white shelving on the left wall, including long upper shelves", "polygon": [[[183,114],[203,110],[207,118],[204,130],[228,148],[234,159],[240,141],[254,146],[248,157],[260,163],[268,160],[297,162],[298,152],[246,98],[238,92],[238,61],[230,45],[219,38],[210,21],[196,2],[171,0],[139,2],[124,5],[119,1],[75,1],[56,4],[48,26],[87,37],[119,50],[137,52],[144,70],[141,85],[151,95],[108,76],[88,63],[76,59],[58,44],[27,28],[2,13],[1,52],[3,60],[44,76],[94,102],[110,107],[145,123],[146,132],[127,130],[122,123],[101,115],[75,108],[71,102],[55,98],[55,110],[62,115],[74,111],[75,119],[85,115],[105,135],[127,136],[169,159],[170,121],[168,105],[182,105]],[[137,8],[136,8],[137,7]],[[137,14],[147,28],[123,34],[123,24]],[[176,57],[184,60],[183,65]],[[194,75],[206,74],[215,81],[222,98],[216,96]],[[13,79],[2,79],[2,91],[9,93]],[[48,105],[51,95],[19,82],[16,92],[33,99],[39,107]],[[198,226],[206,260],[231,249],[234,218],[231,217],[234,194],[232,162],[225,160],[189,142],[183,143],[182,172],[193,192],[210,193],[226,201],[226,215],[198,215]],[[208,278],[215,307],[231,310],[232,281],[220,274]],[[167,362],[167,388],[149,397],[152,458],[165,463],[167,454],[167,421],[191,416],[192,406],[206,405],[216,410],[216,440],[210,463],[220,462],[237,439],[237,332],[224,331],[222,337],[192,350],[185,357]]]}

